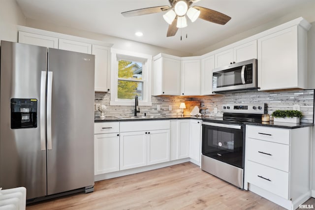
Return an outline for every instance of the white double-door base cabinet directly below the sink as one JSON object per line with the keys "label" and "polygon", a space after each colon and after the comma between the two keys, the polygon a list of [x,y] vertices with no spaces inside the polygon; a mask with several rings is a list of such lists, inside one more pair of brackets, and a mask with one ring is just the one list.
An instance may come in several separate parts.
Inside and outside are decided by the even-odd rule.
{"label": "white double-door base cabinet directly below the sink", "polygon": [[120,170],[170,161],[170,120],[126,121],[120,126]]}

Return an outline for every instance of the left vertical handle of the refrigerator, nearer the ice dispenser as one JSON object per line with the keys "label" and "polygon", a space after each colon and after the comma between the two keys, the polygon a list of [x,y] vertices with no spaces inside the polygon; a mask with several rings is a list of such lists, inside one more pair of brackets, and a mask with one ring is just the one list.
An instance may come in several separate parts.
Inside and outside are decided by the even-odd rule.
{"label": "left vertical handle of the refrigerator, nearer the ice dispenser", "polygon": [[45,102],[46,102],[46,71],[41,71],[41,78],[40,78],[40,150],[46,150]]}

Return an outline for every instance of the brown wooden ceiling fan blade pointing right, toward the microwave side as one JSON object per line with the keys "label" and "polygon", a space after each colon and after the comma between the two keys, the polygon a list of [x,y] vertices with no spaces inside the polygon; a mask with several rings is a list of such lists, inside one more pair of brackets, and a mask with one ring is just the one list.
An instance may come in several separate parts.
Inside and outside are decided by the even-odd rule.
{"label": "brown wooden ceiling fan blade pointing right, toward the microwave side", "polygon": [[204,8],[201,6],[193,6],[193,8],[200,10],[199,18],[212,23],[225,25],[229,20],[231,20],[231,17],[212,9]]}

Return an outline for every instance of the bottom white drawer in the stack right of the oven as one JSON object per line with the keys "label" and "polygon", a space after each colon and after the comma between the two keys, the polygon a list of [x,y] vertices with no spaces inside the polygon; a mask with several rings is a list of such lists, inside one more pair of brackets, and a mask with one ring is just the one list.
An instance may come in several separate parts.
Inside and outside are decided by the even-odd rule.
{"label": "bottom white drawer in the stack right of the oven", "polygon": [[288,173],[252,161],[247,161],[245,173],[249,183],[288,199]]}

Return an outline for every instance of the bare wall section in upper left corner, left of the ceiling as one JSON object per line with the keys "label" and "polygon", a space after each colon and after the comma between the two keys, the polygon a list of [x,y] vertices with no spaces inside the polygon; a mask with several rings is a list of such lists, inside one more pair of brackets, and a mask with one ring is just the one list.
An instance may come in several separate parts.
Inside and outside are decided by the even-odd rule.
{"label": "bare wall section in upper left corner, left of the ceiling", "polygon": [[25,17],[15,0],[0,0],[0,40],[17,42],[16,26],[24,26],[25,23]]}

